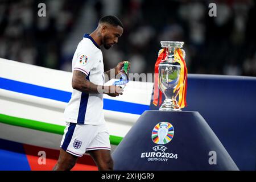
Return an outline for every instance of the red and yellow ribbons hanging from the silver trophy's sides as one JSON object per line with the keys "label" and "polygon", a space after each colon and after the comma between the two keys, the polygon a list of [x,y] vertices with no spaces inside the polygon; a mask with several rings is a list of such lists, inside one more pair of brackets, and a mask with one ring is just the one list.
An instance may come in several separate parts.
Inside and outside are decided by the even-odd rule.
{"label": "red and yellow ribbons hanging from the silver trophy's sides", "polygon": [[[159,74],[159,64],[166,58],[167,48],[160,49],[158,53],[158,59],[155,63],[155,82],[154,82],[154,100],[153,104],[157,106],[158,104],[162,104],[162,92],[158,87],[158,74]],[[180,48],[176,48],[174,51],[174,61],[180,64],[180,78],[178,84],[174,89],[174,93],[177,91],[177,97],[179,95],[179,106],[180,108],[184,108],[187,106],[186,96],[187,96],[187,65],[185,60],[183,59],[183,51]],[[157,75],[157,76],[156,76]]]}

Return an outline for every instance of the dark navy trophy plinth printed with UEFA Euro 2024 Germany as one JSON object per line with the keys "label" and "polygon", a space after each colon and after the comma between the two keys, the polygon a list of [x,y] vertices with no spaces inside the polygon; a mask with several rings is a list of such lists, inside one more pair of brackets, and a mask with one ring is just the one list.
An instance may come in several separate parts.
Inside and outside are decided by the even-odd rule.
{"label": "dark navy trophy plinth printed with UEFA Euro 2024 Germany", "polygon": [[[216,152],[216,164],[210,163],[210,151]],[[112,158],[114,170],[119,171],[239,170],[205,119],[195,111],[144,111]]]}

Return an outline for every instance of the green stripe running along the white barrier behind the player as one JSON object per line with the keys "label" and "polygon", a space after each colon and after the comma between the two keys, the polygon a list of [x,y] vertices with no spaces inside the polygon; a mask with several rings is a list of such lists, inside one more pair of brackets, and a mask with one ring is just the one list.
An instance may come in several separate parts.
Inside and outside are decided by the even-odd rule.
{"label": "green stripe running along the white barrier behind the player", "polygon": [[[8,125],[26,127],[28,129],[46,131],[48,133],[54,133],[59,135],[63,135],[64,129],[65,129],[65,126],[54,125],[51,123],[44,123],[44,122],[35,121],[32,119],[18,118],[10,115],[5,115],[5,114],[0,114],[0,122]],[[122,139],[123,139],[122,137],[110,135],[111,144],[118,145]]]}

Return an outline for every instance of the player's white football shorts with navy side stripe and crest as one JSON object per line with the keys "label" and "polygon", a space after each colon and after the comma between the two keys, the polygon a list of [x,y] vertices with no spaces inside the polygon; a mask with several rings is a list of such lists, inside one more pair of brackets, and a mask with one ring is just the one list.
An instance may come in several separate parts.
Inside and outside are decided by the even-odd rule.
{"label": "player's white football shorts with navy side stripe and crest", "polygon": [[67,122],[60,147],[75,156],[82,156],[91,150],[111,150],[106,124],[84,125]]}

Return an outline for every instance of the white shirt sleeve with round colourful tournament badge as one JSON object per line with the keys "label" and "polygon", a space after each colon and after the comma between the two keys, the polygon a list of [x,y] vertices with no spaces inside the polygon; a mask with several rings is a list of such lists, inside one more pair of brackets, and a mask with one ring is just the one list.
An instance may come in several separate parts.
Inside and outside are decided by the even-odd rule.
{"label": "white shirt sleeve with round colourful tournament badge", "polygon": [[78,52],[75,61],[74,70],[81,71],[85,73],[86,76],[88,76],[90,71],[94,68],[94,56],[92,56],[92,53],[89,53],[89,51]]}

